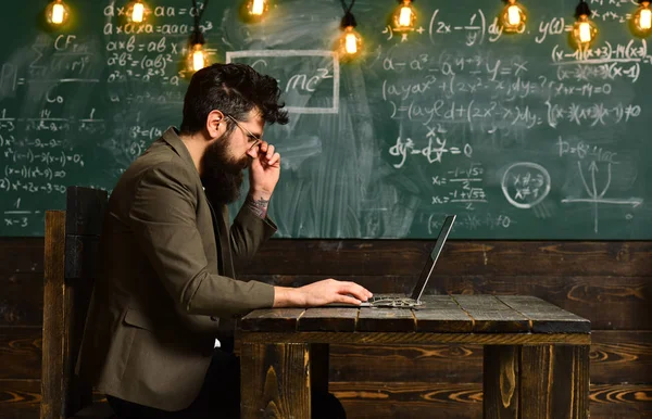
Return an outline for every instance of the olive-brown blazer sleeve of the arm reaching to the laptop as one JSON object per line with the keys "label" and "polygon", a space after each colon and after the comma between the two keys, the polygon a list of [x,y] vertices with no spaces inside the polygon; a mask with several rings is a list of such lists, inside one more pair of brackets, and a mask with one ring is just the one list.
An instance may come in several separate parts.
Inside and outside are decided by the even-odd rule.
{"label": "olive-brown blazer sleeve of the arm reaching to the laptop", "polygon": [[212,275],[188,170],[160,163],[140,178],[129,223],[161,282],[188,314],[233,316],[274,304],[274,287]]}

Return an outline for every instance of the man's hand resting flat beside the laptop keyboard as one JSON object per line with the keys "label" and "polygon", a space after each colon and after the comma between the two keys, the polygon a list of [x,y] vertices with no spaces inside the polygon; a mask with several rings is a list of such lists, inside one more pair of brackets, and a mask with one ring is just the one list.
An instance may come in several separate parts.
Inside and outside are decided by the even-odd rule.
{"label": "man's hand resting flat beside the laptop keyboard", "polygon": [[274,307],[316,307],[330,303],[360,305],[372,296],[355,282],[324,279],[301,288],[274,287]]}

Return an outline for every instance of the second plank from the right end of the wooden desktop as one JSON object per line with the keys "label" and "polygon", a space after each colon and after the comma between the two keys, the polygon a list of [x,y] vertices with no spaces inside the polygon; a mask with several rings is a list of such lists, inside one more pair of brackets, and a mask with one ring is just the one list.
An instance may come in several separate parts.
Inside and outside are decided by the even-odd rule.
{"label": "second plank from the right end of the wooden desktop", "polygon": [[493,295],[453,295],[474,319],[474,332],[529,332],[529,319]]}

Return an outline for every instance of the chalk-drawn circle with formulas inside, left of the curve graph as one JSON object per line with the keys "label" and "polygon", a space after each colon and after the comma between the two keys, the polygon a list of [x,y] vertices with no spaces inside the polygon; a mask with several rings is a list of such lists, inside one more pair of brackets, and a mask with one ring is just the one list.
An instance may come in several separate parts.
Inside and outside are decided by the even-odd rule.
{"label": "chalk-drawn circle with formulas inside, left of the curve graph", "polygon": [[514,163],[505,170],[501,187],[510,204],[531,208],[548,196],[550,174],[537,163]]}

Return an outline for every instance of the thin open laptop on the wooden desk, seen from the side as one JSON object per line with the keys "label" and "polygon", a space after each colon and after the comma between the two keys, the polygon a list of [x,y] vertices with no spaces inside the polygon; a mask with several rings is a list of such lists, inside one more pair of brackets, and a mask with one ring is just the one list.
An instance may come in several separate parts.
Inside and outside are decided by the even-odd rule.
{"label": "thin open laptop on the wooden desk, seen from the side", "polygon": [[[361,307],[392,307],[392,308],[413,308],[423,305],[421,302],[422,294],[428,284],[428,280],[435,270],[435,265],[437,264],[437,259],[439,258],[439,254],[443,249],[443,244],[448,239],[449,233],[453,227],[453,223],[455,223],[455,215],[449,215],[446,217],[443,225],[441,226],[441,230],[439,231],[439,237],[435,242],[435,245],[431,247],[431,252],[429,257],[426,261],[426,265],[422,269],[421,276],[418,277],[418,281],[414,285],[412,293],[410,295],[398,295],[398,294],[374,294],[368,301],[363,302]],[[348,304],[328,304],[328,306],[347,306],[353,307],[354,305]]]}

